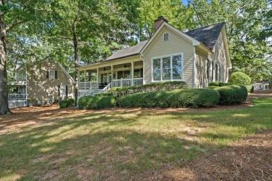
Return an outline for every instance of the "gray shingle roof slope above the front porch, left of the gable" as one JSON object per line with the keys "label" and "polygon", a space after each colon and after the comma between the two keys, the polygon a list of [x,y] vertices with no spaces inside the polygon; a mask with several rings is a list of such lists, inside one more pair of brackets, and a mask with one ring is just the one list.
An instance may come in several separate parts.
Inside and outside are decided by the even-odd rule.
{"label": "gray shingle roof slope above the front porch, left of the gable", "polygon": [[144,47],[144,45],[146,45],[146,42],[147,42],[147,40],[143,41],[143,42],[139,42],[137,45],[135,45],[133,47],[128,47],[126,49],[119,49],[116,52],[114,52],[114,54],[109,56],[109,58],[107,58],[106,61],[112,61],[117,58],[124,58],[127,56],[137,55],[137,54],[139,54],[141,49]]}

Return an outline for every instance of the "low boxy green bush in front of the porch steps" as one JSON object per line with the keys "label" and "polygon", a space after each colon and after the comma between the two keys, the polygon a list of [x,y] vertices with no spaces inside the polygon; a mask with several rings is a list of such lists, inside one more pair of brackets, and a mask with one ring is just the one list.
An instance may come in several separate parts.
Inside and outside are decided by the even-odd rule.
{"label": "low boxy green bush in front of the porch steps", "polygon": [[86,96],[78,100],[80,109],[106,109],[116,107],[116,96]]}

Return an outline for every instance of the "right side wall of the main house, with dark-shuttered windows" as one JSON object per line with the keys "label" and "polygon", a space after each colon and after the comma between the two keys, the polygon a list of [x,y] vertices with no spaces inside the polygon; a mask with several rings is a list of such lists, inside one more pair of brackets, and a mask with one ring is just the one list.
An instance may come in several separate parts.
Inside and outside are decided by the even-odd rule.
{"label": "right side wall of the main house, with dark-shuttered windows", "polygon": [[[228,81],[228,69],[225,47],[220,33],[216,45],[213,49],[214,54],[204,56],[199,51],[196,51],[196,88],[205,88],[210,82],[216,81],[216,64],[220,65],[220,81]],[[207,77],[207,60],[213,61],[213,79]]]}

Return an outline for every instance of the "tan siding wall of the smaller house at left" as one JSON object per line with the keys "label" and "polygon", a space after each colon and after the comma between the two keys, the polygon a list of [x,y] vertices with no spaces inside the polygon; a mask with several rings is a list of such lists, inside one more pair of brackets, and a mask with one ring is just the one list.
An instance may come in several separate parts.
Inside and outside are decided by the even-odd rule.
{"label": "tan siding wall of the smaller house at left", "polygon": [[[57,79],[47,79],[47,71],[56,70]],[[42,65],[33,65],[27,71],[28,99],[40,101],[58,100],[58,86],[68,86],[68,97],[73,96],[73,81],[53,61],[47,61]]]}

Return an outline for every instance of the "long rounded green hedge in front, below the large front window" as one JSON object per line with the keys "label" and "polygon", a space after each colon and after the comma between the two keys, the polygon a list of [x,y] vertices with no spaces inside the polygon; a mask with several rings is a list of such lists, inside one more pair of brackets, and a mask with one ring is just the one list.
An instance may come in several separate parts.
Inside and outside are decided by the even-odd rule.
{"label": "long rounded green hedge in front, below the large front window", "polygon": [[178,89],[124,95],[120,107],[211,107],[218,104],[220,94],[213,89]]}

